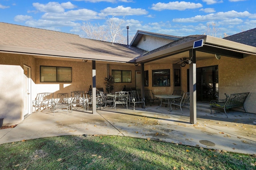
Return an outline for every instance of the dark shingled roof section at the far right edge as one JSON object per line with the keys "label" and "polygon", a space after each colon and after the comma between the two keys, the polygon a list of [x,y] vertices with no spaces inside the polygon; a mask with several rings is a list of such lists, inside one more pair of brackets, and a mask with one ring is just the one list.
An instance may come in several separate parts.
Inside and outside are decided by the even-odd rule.
{"label": "dark shingled roof section at the far right edge", "polygon": [[228,37],[224,37],[223,39],[256,47],[256,28],[230,35]]}

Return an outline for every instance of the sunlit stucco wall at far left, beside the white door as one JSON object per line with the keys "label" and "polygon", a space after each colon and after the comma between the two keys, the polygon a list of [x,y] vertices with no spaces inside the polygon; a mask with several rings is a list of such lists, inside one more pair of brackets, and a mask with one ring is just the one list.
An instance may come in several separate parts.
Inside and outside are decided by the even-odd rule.
{"label": "sunlit stucco wall at far left, beside the white door", "polygon": [[33,63],[31,56],[0,53],[0,118],[4,118],[4,125],[24,119],[23,66]]}

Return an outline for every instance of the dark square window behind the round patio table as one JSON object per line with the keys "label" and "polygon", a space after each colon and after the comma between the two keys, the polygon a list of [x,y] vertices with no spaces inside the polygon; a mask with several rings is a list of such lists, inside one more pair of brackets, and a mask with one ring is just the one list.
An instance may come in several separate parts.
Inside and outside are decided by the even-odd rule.
{"label": "dark square window behind the round patio table", "polygon": [[170,69],[152,70],[152,85],[155,86],[170,86]]}

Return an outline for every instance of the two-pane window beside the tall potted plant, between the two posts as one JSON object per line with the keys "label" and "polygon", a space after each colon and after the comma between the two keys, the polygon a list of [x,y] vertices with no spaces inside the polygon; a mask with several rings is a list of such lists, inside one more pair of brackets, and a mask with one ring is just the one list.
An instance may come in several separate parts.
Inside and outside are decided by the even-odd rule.
{"label": "two-pane window beside the tall potted plant, between the two posts", "polygon": [[112,76],[115,83],[131,83],[132,71],[130,70],[112,70]]}

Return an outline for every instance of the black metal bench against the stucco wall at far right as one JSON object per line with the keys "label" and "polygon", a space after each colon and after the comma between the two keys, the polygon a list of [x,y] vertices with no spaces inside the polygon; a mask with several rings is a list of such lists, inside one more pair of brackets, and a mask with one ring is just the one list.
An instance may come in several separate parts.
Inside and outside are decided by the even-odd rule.
{"label": "black metal bench against the stucco wall at far right", "polygon": [[224,109],[224,112],[227,117],[228,117],[228,115],[226,113],[226,109],[240,108],[242,106],[243,107],[242,109],[246,112],[246,110],[244,108],[244,102],[245,102],[247,96],[249,95],[249,93],[250,92],[230,94],[230,96],[227,96],[226,100],[223,100],[224,102],[218,102],[216,100],[212,100],[211,104],[210,104],[211,114],[212,114],[213,107],[218,107],[218,108]]}

